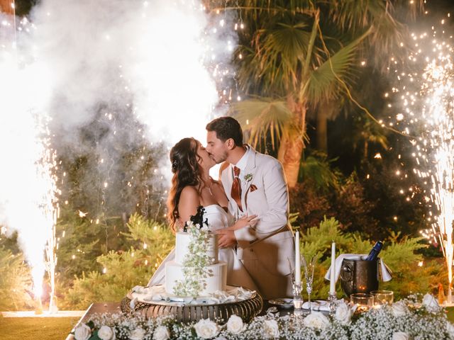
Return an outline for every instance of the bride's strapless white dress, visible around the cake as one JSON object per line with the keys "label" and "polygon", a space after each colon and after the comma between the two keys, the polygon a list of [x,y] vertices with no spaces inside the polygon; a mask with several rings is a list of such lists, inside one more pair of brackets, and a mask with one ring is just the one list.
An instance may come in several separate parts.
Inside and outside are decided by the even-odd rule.
{"label": "bride's strapless white dress, visible around the cake", "polygon": [[[220,205],[212,204],[207,205],[204,208],[204,220],[208,220],[211,231],[215,232],[218,229],[223,229],[233,224],[233,216],[226,212],[226,210],[223,210]],[[236,251],[234,249],[219,249],[218,256],[219,261],[227,263],[228,285],[239,285],[240,287],[249,288],[251,290],[258,290],[248,271],[244,268],[243,263],[241,263],[236,256]],[[173,260],[175,260],[175,248],[170,251],[159,268],[157,268],[152,278],[150,278],[148,287],[165,284],[165,263]]]}

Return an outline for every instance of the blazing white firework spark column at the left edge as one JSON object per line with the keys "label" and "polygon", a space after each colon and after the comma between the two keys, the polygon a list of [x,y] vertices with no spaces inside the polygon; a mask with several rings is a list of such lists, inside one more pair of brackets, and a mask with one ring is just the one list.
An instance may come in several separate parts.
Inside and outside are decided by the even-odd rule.
{"label": "blazing white firework spark column at the left edge", "polygon": [[[20,29],[4,18],[4,26],[29,30],[27,21]],[[46,69],[39,62],[25,63],[15,38],[4,35],[0,44],[0,222],[18,230],[18,241],[31,266],[33,291],[43,294],[43,278],[50,275],[50,307],[55,310],[55,220],[56,179],[52,176],[55,154],[49,149],[50,131],[45,103],[49,96]],[[12,42],[12,43],[11,43]],[[39,81],[39,84],[38,84]],[[46,256],[46,258],[45,258]]]}

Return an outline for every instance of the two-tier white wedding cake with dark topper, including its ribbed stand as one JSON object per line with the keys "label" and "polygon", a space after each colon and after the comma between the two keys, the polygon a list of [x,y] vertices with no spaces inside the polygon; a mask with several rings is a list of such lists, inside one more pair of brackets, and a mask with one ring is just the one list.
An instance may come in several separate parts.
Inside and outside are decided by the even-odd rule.
{"label": "two-tier white wedding cake with dark topper, including its ribbed stand", "polygon": [[203,214],[204,208],[199,207],[175,235],[173,260],[160,267],[165,278],[146,287],[136,285],[121,302],[123,312],[145,318],[172,315],[180,322],[194,322],[233,313],[249,320],[262,310],[262,297],[254,290],[227,285],[227,263],[219,261],[218,234],[210,231]]}

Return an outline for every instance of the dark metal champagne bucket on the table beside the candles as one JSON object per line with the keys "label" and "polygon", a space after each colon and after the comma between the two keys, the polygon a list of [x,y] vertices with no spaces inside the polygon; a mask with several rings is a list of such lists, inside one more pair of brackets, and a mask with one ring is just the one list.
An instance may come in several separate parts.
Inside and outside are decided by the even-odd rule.
{"label": "dark metal champagne bucket on the table beside the candles", "polygon": [[378,290],[378,261],[343,259],[341,267],[341,287],[350,297],[353,293],[370,293]]}

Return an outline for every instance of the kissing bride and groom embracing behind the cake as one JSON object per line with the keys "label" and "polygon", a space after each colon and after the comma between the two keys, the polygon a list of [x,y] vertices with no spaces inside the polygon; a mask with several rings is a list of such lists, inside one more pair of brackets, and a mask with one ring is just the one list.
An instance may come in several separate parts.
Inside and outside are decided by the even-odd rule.
{"label": "kissing bride and groom embracing behind the cake", "polygon": [[[227,284],[257,290],[265,299],[292,296],[289,263],[294,263],[294,237],[288,224],[289,199],[277,159],[243,145],[237,120],[221,117],[206,125],[206,147],[183,138],[170,150],[172,188],[167,201],[172,229],[205,209],[219,242],[219,261],[228,265]],[[209,176],[221,164],[220,181]],[[148,283],[164,284],[165,263]]]}

